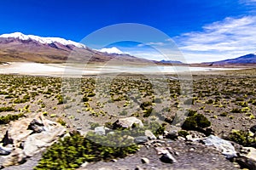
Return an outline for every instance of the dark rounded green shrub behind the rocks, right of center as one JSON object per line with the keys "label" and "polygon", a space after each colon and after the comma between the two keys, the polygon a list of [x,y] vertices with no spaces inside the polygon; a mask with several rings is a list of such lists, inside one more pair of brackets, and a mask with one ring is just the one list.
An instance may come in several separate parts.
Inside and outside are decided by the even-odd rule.
{"label": "dark rounded green shrub behind the rocks, right of center", "polygon": [[197,130],[199,128],[210,127],[211,122],[208,121],[207,117],[202,114],[195,114],[194,116],[189,116],[183,122],[182,128],[186,130]]}

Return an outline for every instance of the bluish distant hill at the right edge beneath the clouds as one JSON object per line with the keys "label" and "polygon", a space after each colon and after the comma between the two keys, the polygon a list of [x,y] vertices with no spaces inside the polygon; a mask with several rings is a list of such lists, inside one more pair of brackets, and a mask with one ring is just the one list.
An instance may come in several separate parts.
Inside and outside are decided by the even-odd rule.
{"label": "bluish distant hill at the right edge beneath the clouds", "polygon": [[247,65],[256,64],[256,54],[246,54],[236,59],[224,59],[220,61],[207,62],[208,65]]}

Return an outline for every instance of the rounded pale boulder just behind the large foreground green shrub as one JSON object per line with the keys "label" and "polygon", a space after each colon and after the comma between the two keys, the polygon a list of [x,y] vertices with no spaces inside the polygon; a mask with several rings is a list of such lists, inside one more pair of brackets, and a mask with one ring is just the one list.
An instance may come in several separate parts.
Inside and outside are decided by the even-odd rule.
{"label": "rounded pale boulder just behind the large foreground green shrub", "polygon": [[113,128],[131,128],[133,126],[143,127],[143,122],[137,117],[125,117],[113,123]]}

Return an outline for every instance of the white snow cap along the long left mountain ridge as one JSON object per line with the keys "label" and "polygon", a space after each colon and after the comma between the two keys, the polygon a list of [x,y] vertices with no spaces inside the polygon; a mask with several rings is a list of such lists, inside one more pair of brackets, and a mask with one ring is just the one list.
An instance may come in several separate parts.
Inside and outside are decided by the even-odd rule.
{"label": "white snow cap along the long left mountain ridge", "polygon": [[14,37],[14,38],[18,38],[20,40],[35,40],[37,42],[40,43],[53,43],[53,42],[59,42],[63,45],[74,45],[75,47],[78,48],[85,48],[85,45],[79,42],[73,42],[71,40],[66,40],[64,38],[61,37],[39,37],[39,36],[34,36],[34,35],[24,35],[21,32],[14,32],[14,33],[10,33],[10,34],[3,34],[0,37],[5,37],[5,38],[9,38],[9,37]]}

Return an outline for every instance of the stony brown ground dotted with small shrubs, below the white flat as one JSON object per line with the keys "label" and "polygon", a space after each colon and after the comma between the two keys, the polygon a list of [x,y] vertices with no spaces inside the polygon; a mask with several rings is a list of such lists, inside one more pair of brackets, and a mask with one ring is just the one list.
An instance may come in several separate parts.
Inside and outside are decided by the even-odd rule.
{"label": "stony brown ground dotted with small shrubs, below the white flat", "polygon": [[[79,169],[256,169],[255,76],[255,70],[197,74],[192,98],[183,100],[189,93],[180,93],[175,75],[166,82],[131,75],[84,77],[79,90],[58,77],[2,75],[0,164],[32,169],[49,145],[73,130],[108,136],[118,125],[131,129],[134,123],[158,122],[165,127],[162,133],[150,129],[154,134],[130,136],[140,148],[135,154],[84,162]],[[105,85],[97,87],[99,81]],[[182,126],[188,114],[190,121],[203,115],[211,126],[193,121]]]}

